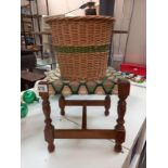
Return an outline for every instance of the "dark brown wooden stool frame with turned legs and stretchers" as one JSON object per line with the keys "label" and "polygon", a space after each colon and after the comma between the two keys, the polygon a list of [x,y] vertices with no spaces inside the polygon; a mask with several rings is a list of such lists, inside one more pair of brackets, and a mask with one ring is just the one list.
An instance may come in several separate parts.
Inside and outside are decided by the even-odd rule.
{"label": "dark brown wooden stool frame with turned legs and stretchers", "polygon": [[66,100],[60,96],[59,105],[61,115],[65,115],[65,106],[82,106],[82,126],[77,129],[55,129],[50,117],[51,107],[49,102],[49,83],[47,81],[39,82],[39,94],[42,98],[42,109],[44,114],[44,139],[48,142],[49,152],[54,151],[54,139],[114,139],[115,151],[121,152],[121,144],[125,142],[126,130],[124,116],[126,113],[126,99],[129,95],[130,82],[125,79],[118,79],[118,118],[114,129],[87,129],[87,106],[104,106],[105,116],[109,114],[111,98],[106,94],[105,100]]}

